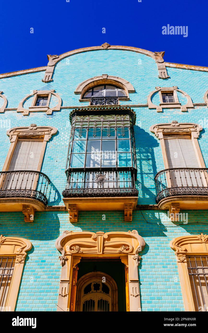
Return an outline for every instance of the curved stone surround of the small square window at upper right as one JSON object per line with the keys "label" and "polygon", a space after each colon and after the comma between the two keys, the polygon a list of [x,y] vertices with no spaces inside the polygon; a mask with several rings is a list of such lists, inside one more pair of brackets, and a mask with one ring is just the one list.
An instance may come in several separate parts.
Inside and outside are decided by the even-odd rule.
{"label": "curved stone surround of the small square window at upper right", "polygon": [[[178,99],[177,98],[177,93],[176,93],[178,91],[179,93],[183,94],[187,98],[187,103],[185,105],[181,105],[179,102],[171,103],[171,104],[170,103],[166,103],[166,104],[164,103],[163,104],[162,101],[161,101],[162,106],[161,105],[155,105],[155,104],[153,104],[152,103],[152,96],[155,93],[157,93],[157,92],[161,92],[162,93],[163,91],[165,91],[165,92],[166,91],[173,92],[174,97],[176,99]],[[161,100],[161,98],[160,98],[160,100]],[[171,87],[155,87],[155,90],[153,90],[149,94],[149,96],[147,97],[147,103],[148,103],[148,108],[149,109],[156,109],[157,112],[162,112],[163,108],[171,108],[171,109],[173,109],[173,108],[180,108],[182,112],[187,111],[187,108],[194,108],[191,97],[188,94],[186,94],[184,91],[178,89],[178,87],[176,87],[176,86],[172,87],[172,88]]]}

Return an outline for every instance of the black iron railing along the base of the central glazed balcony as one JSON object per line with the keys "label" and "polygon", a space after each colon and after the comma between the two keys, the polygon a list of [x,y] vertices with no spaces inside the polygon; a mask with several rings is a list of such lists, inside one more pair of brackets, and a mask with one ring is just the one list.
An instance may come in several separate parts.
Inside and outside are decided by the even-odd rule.
{"label": "black iron railing along the base of the central glazed balcony", "polygon": [[138,196],[134,168],[68,169],[63,197]]}

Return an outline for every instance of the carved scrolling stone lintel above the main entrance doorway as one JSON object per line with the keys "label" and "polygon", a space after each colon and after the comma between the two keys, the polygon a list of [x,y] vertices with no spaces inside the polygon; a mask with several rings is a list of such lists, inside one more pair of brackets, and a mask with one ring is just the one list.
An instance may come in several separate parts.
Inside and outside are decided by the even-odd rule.
{"label": "carved scrolling stone lintel above the main entrance doorway", "polygon": [[145,246],[144,239],[137,230],[106,232],[73,232],[65,230],[57,239],[56,248],[61,252],[61,265],[65,264],[67,255],[82,254],[110,254],[127,253],[137,255],[138,250]]}

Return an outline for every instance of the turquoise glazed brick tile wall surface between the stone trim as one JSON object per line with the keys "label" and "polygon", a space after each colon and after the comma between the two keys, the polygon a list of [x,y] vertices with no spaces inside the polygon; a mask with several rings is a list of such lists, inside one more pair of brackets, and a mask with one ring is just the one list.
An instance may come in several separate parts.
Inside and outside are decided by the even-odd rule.
{"label": "turquoise glazed brick tile wall surface between the stone trim", "polygon": [[[141,53],[122,50],[97,50],[82,52],[66,57],[57,63],[53,82],[43,83],[44,72],[28,73],[0,79],[0,90],[8,100],[7,109],[0,114],[0,167],[7,156],[10,141],[6,130],[17,126],[53,126],[58,133],[47,143],[42,169],[53,184],[49,206],[62,206],[62,191],[66,185],[65,166],[69,144],[69,114],[67,107],[83,107],[89,102],[79,102],[80,95],[74,91],[82,81],[107,73],[129,81],[135,93],[129,95],[130,101],[120,101],[121,105],[147,104],[147,97],[156,86],[178,88],[190,95],[193,103],[204,103],[204,93],[208,86],[208,72],[167,68],[169,79],[158,78],[154,59]],[[29,116],[17,113],[19,102],[33,90],[50,90],[62,99],[62,108],[52,115],[45,112],[31,112]],[[33,98],[33,97],[32,97]],[[31,105],[29,98],[24,107]],[[179,102],[186,99],[178,93]],[[0,99],[0,103],[1,103]],[[159,103],[158,96],[153,103]],[[56,105],[51,99],[50,107]],[[0,105],[1,106],[1,105]],[[12,110],[14,108],[15,110]],[[180,109],[163,109],[157,113],[148,107],[135,107],[134,126],[139,189],[138,205],[155,204],[156,188],[154,176],[164,169],[160,141],[149,131],[157,123],[201,124],[203,131],[199,145],[206,166],[208,165],[207,106],[195,106],[188,112]],[[56,311],[61,266],[55,240],[64,230],[73,231],[128,231],[136,229],[146,242],[139,265],[140,293],[142,311],[184,311],[182,291],[177,262],[169,242],[182,235],[208,233],[208,210],[187,210],[188,223],[171,222],[167,211],[135,210],[132,222],[124,222],[122,211],[80,211],[77,223],[69,222],[68,211],[36,212],[33,223],[25,223],[22,212],[0,213],[0,234],[27,238],[32,242],[24,266],[22,281],[16,304],[16,311]],[[106,220],[102,220],[102,215]]]}

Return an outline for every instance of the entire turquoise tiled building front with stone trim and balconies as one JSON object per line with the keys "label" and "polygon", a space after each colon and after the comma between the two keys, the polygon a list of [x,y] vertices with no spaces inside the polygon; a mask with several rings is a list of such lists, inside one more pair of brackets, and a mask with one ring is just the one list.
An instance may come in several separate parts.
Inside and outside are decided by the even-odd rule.
{"label": "entire turquoise tiled building front with stone trim and balconies", "polygon": [[1,311],[207,311],[208,68],[163,56],[0,74]]}

